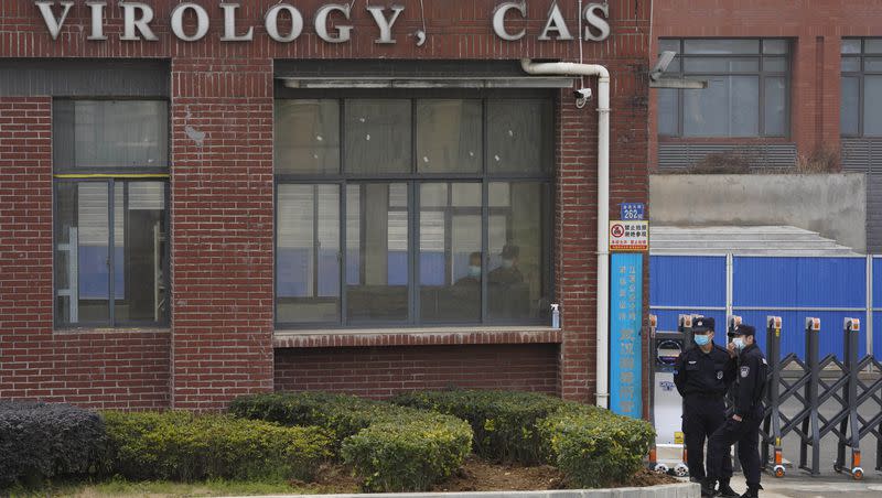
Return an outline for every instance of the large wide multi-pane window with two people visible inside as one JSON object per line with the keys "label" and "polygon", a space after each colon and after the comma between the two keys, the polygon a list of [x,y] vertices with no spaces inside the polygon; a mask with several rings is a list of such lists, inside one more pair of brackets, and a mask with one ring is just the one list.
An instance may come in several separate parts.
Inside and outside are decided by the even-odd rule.
{"label": "large wide multi-pane window with two people visible inside", "polygon": [[276,101],[281,327],[539,323],[551,100]]}

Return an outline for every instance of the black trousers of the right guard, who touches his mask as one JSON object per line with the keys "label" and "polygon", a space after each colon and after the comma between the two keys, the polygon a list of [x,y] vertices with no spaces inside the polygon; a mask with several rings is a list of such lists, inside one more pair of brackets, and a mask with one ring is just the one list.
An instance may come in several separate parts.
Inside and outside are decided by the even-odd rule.
{"label": "black trousers of the right guard, who touches his mask", "polygon": [[[732,475],[729,453],[732,444],[738,443],[738,459],[744,470],[747,487],[760,486],[760,424],[763,421],[763,408],[757,407],[753,413],[741,422],[731,416],[718,429],[708,441],[708,477],[724,478]],[[727,474],[728,472],[728,474]]]}

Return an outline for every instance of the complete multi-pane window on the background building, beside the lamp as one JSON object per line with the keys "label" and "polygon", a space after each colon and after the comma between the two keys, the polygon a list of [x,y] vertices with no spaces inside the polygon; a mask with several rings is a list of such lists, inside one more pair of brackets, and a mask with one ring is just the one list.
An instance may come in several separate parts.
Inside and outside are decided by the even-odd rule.
{"label": "complete multi-pane window on the background building, beside the lamp", "polygon": [[666,76],[707,79],[706,89],[658,90],[664,137],[786,137],[786,40],[660,40],[677,57]]}

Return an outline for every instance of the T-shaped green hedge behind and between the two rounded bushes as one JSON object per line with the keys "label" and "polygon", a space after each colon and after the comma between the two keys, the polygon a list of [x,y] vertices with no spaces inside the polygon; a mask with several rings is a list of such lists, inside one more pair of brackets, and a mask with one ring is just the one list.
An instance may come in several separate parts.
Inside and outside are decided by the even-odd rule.
{"label": "T-shaped green hedge behind and between the two rounded bushes", "polygon": [[523,391],[416,391],[392,399],[396,404],[433,410],[469,422],[476,455],[498,462],[541,462],[537,423],[555,413],[560,398]]}

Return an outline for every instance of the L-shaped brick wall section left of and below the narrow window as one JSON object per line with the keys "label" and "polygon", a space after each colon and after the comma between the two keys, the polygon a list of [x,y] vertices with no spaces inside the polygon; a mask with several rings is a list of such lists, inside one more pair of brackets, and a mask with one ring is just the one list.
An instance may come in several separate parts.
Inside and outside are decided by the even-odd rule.
{"label": "L-shaped brick wall section left of and below the narrow window", "polygon": [[0,97],[0,399],[169,403],[168,332],[53,333],[52,100]]}

